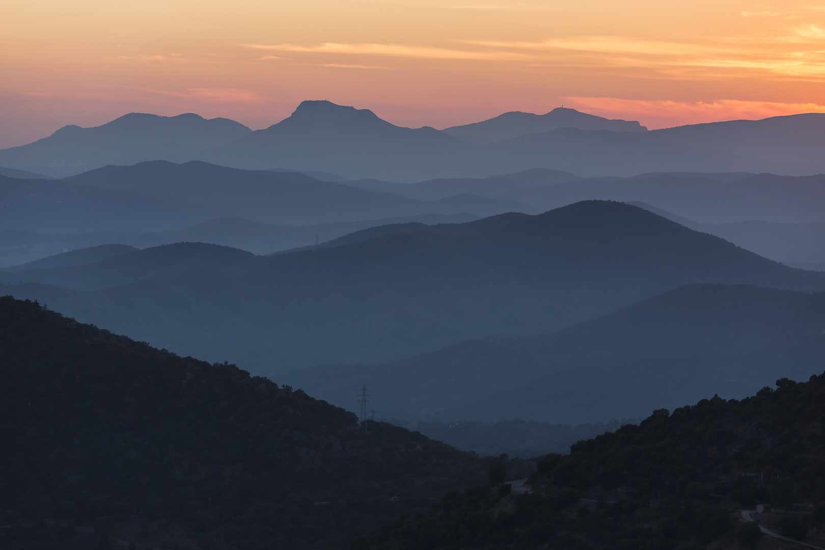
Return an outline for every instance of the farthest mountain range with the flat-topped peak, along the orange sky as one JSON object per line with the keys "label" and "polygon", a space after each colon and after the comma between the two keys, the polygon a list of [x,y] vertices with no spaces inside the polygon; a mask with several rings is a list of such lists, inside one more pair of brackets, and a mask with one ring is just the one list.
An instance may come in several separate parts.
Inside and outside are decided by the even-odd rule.
{"label": "farthest mountain range with the flat-topped peak, along the orange sky", "polygon": [[439,131],[392,125],[366,109],[304,101],[285,120],[256,131],[192,114],[133,113],[95,128],[66,126],[35,143],[3,149],[0,166],[59,177],[158,159],[387,181],[486,177],[535,167],[581,176],[808,176],[825,172],[823,130],[825,114],[820,113],[645,131],[635,121],[556,109],[545,115],[505,113]]}

